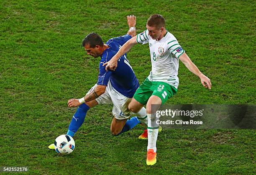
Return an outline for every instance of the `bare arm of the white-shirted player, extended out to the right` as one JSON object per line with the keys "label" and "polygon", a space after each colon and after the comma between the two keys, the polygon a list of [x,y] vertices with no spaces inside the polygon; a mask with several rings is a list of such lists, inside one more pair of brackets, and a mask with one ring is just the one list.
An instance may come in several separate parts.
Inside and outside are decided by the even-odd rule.
{"label": "bare arm of the white-shirted player, extended out to the right", "polygon": [[202,74],[200,70],[197,68],[197,66],[190,60],[188,55],[186,53],[183,53],[180,57],[179,60],[183,62],[183,64],[190,70],[190,72],[194,73],[198,77],[200,77],[201,83],[205,88],[211,89],[212,83],[211,80]]}

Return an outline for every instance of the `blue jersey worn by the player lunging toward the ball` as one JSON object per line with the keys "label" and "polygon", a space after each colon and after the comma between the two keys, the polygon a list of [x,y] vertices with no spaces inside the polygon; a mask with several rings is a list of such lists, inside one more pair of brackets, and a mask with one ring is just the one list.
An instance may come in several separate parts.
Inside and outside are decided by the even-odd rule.
{"label": "blue jersey worn by the player lunging toward the ball", "polygon": [[97,85],[108,85],[108,81],[110,80],[112,86],[123,94],[125,97],[133,97],[135,91],[139,87],[139,82],[133,72],[133,69],[131,65],[129,64],[129,61],[126,58],[126,54],[121,56],[118,59],[118,67],[115,69],[115,71],[112,70],[105,70],[105,66],[102,65],[109,61],[124,45],[125,42],[131,39],[131,35],[123,35],[120,37],[111,38],[106,42],[106,44],[109,46],[108,49],[104,50],[104,52],[101,55],[100,60],[100,73],[98,75],[98,82]]}

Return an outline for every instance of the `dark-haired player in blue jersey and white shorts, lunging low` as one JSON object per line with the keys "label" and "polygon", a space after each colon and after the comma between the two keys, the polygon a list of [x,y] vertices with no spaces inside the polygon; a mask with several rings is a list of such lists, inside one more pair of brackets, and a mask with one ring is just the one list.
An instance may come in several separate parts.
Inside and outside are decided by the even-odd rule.
{"label": "dark-haired player in blue jersey and white shorts, lunging low", "polygon": [[[105,66],[103,67],[103,64],[108,62],[125,42],[136,35],[136,17],[127,16],[127,23],[129,26],[127,35],[111,38],[105,44],[96,33],[88,34],[82,41],[82,46],[88,55],[101,58],[99,63],[100,73],[97,83],[84,97],[68,100],[68,107],[79,107],[73,115],[67,135],[73,137],[84,122],[87,111],[98,104],[113,103],[112,112],[114,118],[110,126],[113,135],[120,135],[131,130],[140,122],[147,125],[147,114],[144,107],[136,113],[140,120],[137,117],[132,117],[128,120],[131,116],[128,105],[139,87],[139,82],[129,64],[126,54],[119,58],[118,68],[115,71],[106,71]],[[51,144],[49,148],[54,149],[54,144]]]}

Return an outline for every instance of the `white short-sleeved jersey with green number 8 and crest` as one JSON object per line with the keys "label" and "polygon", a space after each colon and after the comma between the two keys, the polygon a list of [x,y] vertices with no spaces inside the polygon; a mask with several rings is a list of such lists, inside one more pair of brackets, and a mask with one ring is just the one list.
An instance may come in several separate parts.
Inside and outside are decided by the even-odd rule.
{"label": "white short-sleeved jersey with green number 8 and crest", "polygon": [[179,57],[185,50],[179,45],[174,35],[166,30],[164,37],[157,41],[148,35],[148,30],[145,30],[137,35],[137,42],[149,45],[152,70],[148,80],[166,82],[177,89]]}

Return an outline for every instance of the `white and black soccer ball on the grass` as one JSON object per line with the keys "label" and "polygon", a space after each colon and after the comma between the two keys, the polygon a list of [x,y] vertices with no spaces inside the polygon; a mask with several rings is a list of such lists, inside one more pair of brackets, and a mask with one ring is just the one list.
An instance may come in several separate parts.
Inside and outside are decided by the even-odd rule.
{"label": "white and black soccer ball on the grass", "polygon": [[55,151],[61,155],[72,153],[74,146],[74,139],[69,135],[60,135],[54,142]]}

